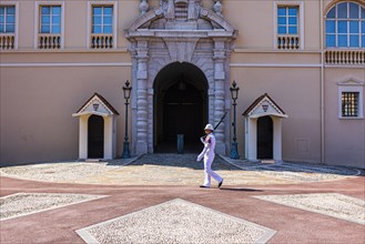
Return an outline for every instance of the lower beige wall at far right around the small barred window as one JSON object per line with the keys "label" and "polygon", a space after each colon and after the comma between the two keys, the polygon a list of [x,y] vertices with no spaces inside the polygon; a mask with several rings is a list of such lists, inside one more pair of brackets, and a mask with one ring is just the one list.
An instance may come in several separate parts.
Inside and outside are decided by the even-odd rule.
{"label": "lower beige wall at far right around the small barred window", "polygon": [[[365,167],[364,119],[338,118],[338,82],[365,81],[365,69],[326,69],[325,82],[325,159],[331,164]],[[362,87],[364,93],[364,85]],[[363,100],[363,108],[365,102]]]}

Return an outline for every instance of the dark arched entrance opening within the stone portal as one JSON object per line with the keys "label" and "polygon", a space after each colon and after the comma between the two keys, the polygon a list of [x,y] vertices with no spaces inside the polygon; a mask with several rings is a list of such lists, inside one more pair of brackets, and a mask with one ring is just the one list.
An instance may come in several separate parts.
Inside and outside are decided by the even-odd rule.
{"label": "dark arched entrance opening within the stone portal", "polygon": [[164,67],[154,80],[154,151],[175,152],[178,134],[184,151],[201,150],[199,138],[207,121],[207,81],[187,62]]}

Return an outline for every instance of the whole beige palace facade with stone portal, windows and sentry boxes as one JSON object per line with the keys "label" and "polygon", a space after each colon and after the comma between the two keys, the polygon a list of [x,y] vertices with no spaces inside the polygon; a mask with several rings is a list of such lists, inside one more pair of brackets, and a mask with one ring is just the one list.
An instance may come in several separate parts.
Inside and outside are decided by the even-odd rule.
{"label": "whole beige palace facade with stone portal, windows and sentry boxes", "polygon": [[132,154],[227,113],[217,153],[365,167],[363,0],[2,0],[0,50],[1,164],[120,157],[129,80]]}

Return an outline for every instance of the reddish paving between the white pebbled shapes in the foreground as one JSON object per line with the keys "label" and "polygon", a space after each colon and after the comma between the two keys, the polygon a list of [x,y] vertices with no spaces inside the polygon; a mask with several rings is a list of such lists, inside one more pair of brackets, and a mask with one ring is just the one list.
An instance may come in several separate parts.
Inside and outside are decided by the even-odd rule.
{"label": "reddish paving between the white pebbled shapes in the foreground", "polygon": [[[277,231],[267,243],[365,243],[365,226],[254,199],[254,195],[341,193],[365,201],[365,177],[291,185],[113,186],[0,177],[0,196],[19,192],[100,194],[109,197],[0,222],[1,244],[84,243],[75,230],[173,199],[183,199]],[[219,231],[219,230],[217,230]]]}

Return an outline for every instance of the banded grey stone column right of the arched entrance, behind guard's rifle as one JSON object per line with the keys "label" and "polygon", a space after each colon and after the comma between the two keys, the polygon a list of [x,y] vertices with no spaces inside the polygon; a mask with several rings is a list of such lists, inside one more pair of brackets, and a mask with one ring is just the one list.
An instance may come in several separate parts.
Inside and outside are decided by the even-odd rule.
{"label": "banded grey stone column right of the arched entrance, behind guard's rifle", "polygon": [[[214,124],[217,124],[225,111],[225,40],[214,39]],[[224,140],[224,121],[214,132],[216,139],[216,153],[225,154],[225,140]]]}

